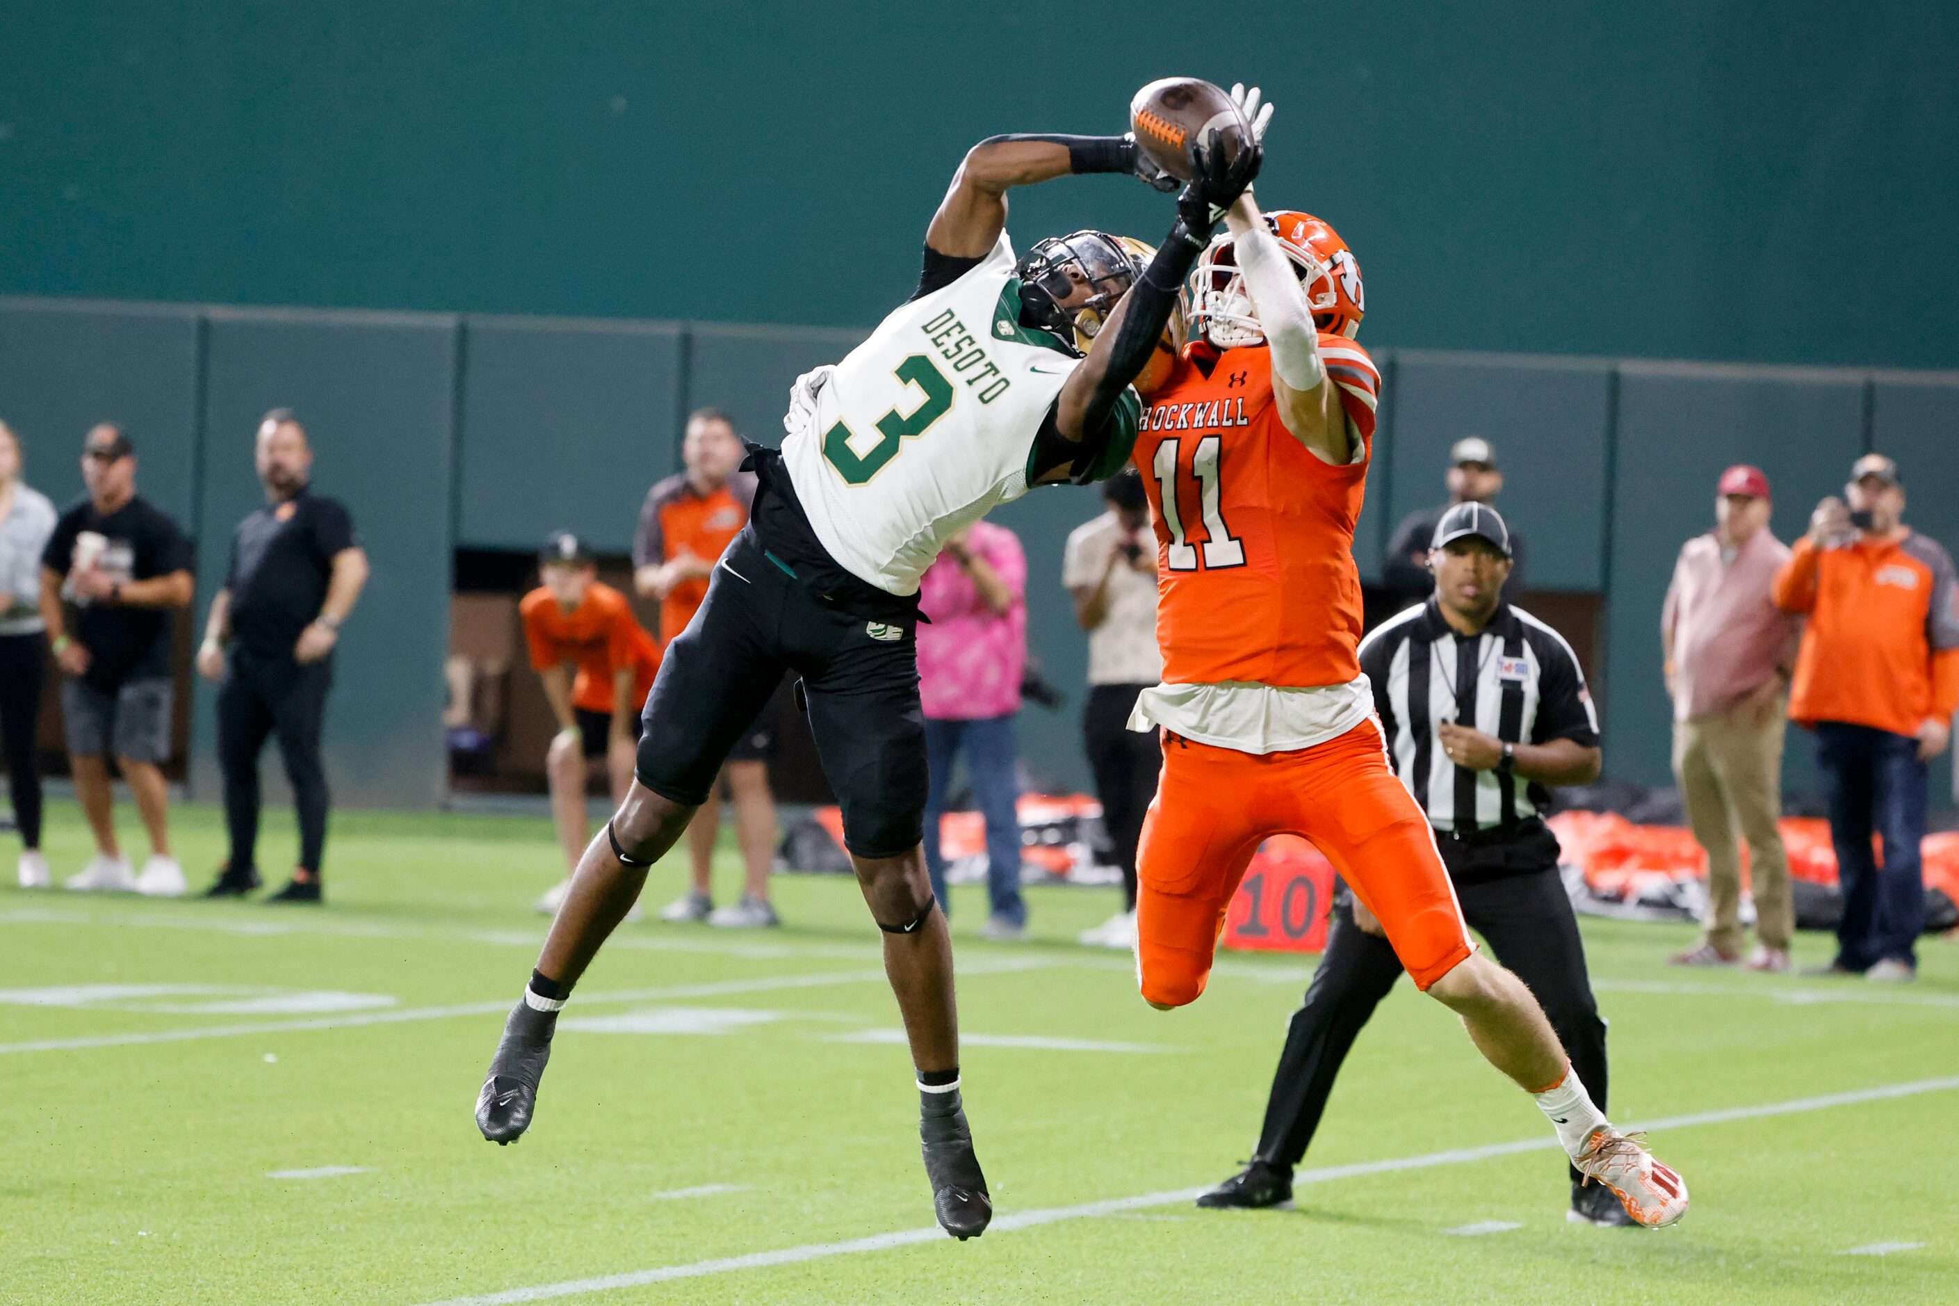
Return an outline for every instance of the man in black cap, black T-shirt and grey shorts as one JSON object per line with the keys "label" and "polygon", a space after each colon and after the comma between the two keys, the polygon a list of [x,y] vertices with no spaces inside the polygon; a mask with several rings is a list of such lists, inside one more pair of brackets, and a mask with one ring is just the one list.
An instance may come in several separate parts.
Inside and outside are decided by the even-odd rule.
{"label": "man in black cap, black T-shirt and grey shorts", "polygon": [[[188,608],[196,588],[190,541],[176,522],[135,492],[135,447],[112,422],[82,443],[88,494],[55,524],[41,555],[41,620],[61,665],[61,714],[74,769],[74,796],[96,835],[96,855],[67,888],[139,894],[184,892],[184,869],[170,855],[170,612]],[[65,604],[74,606],[69,633]],[[116,841],[110,751],[149,831],[149,861],[131,875]]]}

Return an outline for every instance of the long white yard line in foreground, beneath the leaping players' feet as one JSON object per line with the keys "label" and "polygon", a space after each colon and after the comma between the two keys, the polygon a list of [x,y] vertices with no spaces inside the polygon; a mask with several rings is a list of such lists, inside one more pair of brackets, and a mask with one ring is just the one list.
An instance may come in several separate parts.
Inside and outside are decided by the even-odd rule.
{"label": "long white yard line in foreground, beneath the leaping players' feet", "polygon": [[[1881,1084],[1877,1088],[1857,1088],[1851,1092],[1832,1092],[1816,1098],[1794,1098],[1789,1102],[1763,1102],[1757,1106],[1734,1106],[1718,1112],[1695,1112],[1689,1116],[1669,1116],[1663,1120],[1648,1120],[1640,1124],[1624,1126],[1626,1130],[1685,1130],[1702,1124],[1722,1124],[1730,1120],[1757,1120],[1763,1116],[1796,1116],[1802,1112],[1820,1112],[1832,1106],[1855,1106],[1859,1102],[1885,1102],[1890,1098],[1910,1098],[1922,1092],[1951,1092],[1959,1088],[1959,1075],[1947,1079],[1920,1079],[1904,1084]],[[1557,1147],[1555,1135],[1540,1135],[1532,1139],[1518,1139],[1514,1143],[1491,1143],[1487,1147],[1461,1147],[1456,1151],[1432,1151],[1420,1157],[1397,1157],[1391,1161],[1362,1161],[1356,1165],[1328,1165],[1313,1171],[1299,1171],[1293,1175],[1293,1186],[1332,1182],[1336,1179],[1358,1179],[1363,1175],[1391,1175],[1397,1171],[1424,1171],[1438,1165],[1461,1165],[1467,1161],[1489,1161],[1493,1157],[1508,1157],[1520,1151],[1552,1151]],[[1083,1202],[1081,1206],[1050,1206],[1046,1210],[1027,1210],[1017,1214],[999,1216],[993,1220],[989,1233],[1005,1233],[1011,1230],[1030,1230],[1044,1224],[1060,1224],[1064,1220],[1093,1220],[1099,1216],[1121,1216],[1134,1210],[1148,1210],[1152,1206],[1175,1206],[1179,1202],[1191,1202],[1207,1188],[1173,1188],[1168,1192],[1144,1192],[1140,1196],[1128,1198],[1109,1198],[1103,1202]],[[486,1292],[482,1296],[454,1296],[441,1302],[431,1302],[429,1306],[509,1306],[513,1302],[549,1302],[560,1296],[584,1296],[588,1292],[611,1292],[613,1288],[637,1288],[650,1282],[670,1282],[674,1279],[703,1279],[709,1275],[733,1275],[737,1271],[768,1269],[772,1265],[795,1265],[801,1261],[821,1261],[827,1257],[848,1257],[866,1251],[889,1251],[891,1247],[909,1247],[913,1243],[931,1243],[944,1239],[946,1233],[938,1226],[929,1230],[897,1230],[891,1233],[872,1233],[870,1237],[854,1237],[842,1243],[805,1243],[801,1247],[782,1247],[778,1251],[752,1251],[742,1257],[717,1257],[713,1261],[690,1261],[686,1265],[662,1265],[658,1269],[631,1271],[623,1275],[597,1275],[594,1279],[570,1279],[564,1282],[547,1282],[531,1288],[509,1288],[505,1292]],[[1904,1251],[1902,1243],[1873,1243],[1871,1247],[1857,1247],[1845,1255],[1885,1255],[1885,1251]]]}

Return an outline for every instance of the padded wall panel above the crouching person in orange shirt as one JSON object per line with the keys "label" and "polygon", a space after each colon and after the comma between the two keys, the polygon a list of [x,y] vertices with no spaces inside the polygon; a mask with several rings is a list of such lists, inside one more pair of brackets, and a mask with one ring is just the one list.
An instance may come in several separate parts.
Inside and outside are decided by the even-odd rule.
{"label": "padded wall panel above the crouching person in orange shirt", "polygon": [[537,549],[552,529],[625,553],[678,459],[672,324],[468,318],[456,543]]}

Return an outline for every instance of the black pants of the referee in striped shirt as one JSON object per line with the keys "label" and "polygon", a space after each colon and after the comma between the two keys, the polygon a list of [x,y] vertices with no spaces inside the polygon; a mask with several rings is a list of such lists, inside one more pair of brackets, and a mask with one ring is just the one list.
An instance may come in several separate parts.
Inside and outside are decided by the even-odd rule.
{"label": "black pants of the referee in striped shirt", "polygon": [[[1469,928],[1536,994],[1571,1067],[1599,1110],[1604,1110],[1604,1020],[1593,1002],[1585,943],[1557,871],[1457,882],[1456,896]],[[1285,1033],[1279,1073],[1266,1104],[1266,1128],[1258,1139],[1260,1161],[1291,1171],[1307,1155],[1340,1063],[1397,979],[1401,963],[1395,949],[1354,924],[1352,898],[1342,888],[1320,969],[1313,973],[1307,1002],[1293,1012]],[[1571,1171],[1571,1182],[1579,1182],[1577,1171]]]}

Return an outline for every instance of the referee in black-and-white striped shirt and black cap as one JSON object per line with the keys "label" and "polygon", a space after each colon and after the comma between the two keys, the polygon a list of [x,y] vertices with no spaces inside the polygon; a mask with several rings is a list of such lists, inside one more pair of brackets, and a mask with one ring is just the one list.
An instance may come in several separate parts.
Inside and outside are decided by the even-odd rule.
{"label": "referee in black-and-white striped shirt and black cap", "polygon": [[[1599,718],[1571,645],[1503,602],[1510,531],[1487,504],[1456,504],[1428,553],[1434,594],[1360,645],[1395,773],[1422,804],[1463,918],[1544,1004],[1571,1065],[1606,1104],[1604,1022],[1538,812],[1546,784],[1599,779]],[[1342,884],[1326,953],[1293,1014],[1252,1163],[1199,1206],[1277,1206],[1313,1141],[1334,1077],[1401,979],[1381,926]],[[1573,1224],[1630,1226],[1624,1206],[1571,1171]]]}

